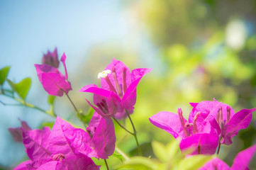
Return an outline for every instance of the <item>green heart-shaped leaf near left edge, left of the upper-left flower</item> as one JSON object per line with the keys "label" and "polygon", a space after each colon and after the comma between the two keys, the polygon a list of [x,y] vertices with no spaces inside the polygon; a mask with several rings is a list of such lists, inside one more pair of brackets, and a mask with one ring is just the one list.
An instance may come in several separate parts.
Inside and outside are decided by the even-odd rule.
{"label": "green heart-shaped leaf near left edge, left of the upper-left flower", "polygon": [[18,96],[20,96],[23,100],[25,100],[31,86],[31,79],[25,78],[20,82],[18,82],[18,84],[13,83],[13,81],[9,79],[7,79],[7,81],[10,84],[11,89],[13,89],[13,91],[16,91]]}

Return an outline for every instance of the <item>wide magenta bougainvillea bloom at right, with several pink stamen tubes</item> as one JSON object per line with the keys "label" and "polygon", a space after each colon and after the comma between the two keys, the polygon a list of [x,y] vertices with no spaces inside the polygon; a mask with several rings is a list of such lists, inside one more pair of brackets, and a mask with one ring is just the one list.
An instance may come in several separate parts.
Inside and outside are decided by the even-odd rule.
{"label": "wide magenta bougainvillea bloom at right, with several pink stamen tubes", "polygon": [[193,154],[214,154],[218,145],[232,144],[232,137],[240,129],[247,128],[256,108],[243,109],[235,113],[233,108],[216,101],[190,103],[193,107],[189,121],[183,118],[182,109],[178,114],[166,111],[150,117],[150,122],[173,137],[182,138],[180,149],[196,148]]}

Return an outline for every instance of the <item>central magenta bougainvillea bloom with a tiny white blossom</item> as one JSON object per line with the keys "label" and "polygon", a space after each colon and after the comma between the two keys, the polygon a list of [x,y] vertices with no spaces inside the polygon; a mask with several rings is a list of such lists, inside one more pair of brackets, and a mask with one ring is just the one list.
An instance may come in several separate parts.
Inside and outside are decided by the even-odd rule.
{"label": "central magenta bougainvillea bloom with a tiny white blossom", "polygon": [[123,62],[113,59],[110,64],[99,73],[101,88],[95,84],[84,86],[80,91],[94,94],[92,106],[101,116],[114,118],[126,117],[126,111],[133,113],[136,103],[136,87],[140,79],[150,72],[151,69],[130,69]]}

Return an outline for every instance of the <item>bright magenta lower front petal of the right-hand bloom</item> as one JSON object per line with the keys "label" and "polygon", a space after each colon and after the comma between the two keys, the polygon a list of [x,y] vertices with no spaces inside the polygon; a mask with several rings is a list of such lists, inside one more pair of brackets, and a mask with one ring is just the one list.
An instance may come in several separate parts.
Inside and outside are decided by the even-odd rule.
{"label": "bright magenta lower front petal of the right-hand bloom", "polygon": [[218,135],[212,133],[196,133],[183,139],[179,147],[181,150],[194,147],[195,151],[193,154],[215,154],[218,147]]}

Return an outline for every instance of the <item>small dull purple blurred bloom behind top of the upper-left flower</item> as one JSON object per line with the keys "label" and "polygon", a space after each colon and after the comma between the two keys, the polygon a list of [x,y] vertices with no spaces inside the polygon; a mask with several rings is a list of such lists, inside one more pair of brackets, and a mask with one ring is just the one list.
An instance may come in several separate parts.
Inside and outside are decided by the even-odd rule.
{"label": "small dull purple blurred bloom behind top of the upper-left flower", "polygon": [[52,67],[58,68],[60,61],[57,58],[57,48],[53,52],[48,51],[47,54],[43,55],[42,64],[48,64]]}

